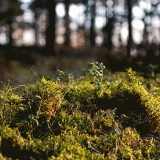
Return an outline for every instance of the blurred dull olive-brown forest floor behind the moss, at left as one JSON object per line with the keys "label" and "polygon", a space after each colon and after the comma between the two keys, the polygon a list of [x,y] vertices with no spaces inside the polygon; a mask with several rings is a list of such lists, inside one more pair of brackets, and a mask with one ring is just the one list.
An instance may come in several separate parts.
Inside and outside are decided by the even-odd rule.
{"label": "blurred dull olive-brown forest floor behind the moss, at left", "polygon": [[75,78],[88,67],[87,62],[94,61],[90,57],[68,57],[68,56],[37,56],[35,64],[26,64],[16,60],[10,60],[6,64],[0,57],[0,81],[1,85],[9,80],[12,84],[34,83],[44,75],[52,76],[56,70],[73,73]]}

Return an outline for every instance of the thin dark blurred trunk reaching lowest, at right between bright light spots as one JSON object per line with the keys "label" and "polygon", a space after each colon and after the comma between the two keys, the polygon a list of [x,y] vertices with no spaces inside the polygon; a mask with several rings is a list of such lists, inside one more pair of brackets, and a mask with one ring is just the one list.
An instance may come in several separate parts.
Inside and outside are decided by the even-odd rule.
{"label": "thin dark blurred trunk reaching lowest, at right between bright light spots", "polygon": [[128,44],[127,44],[127,56],[130,57],[131,45],[132,45],[132,2],[131,0],[127,1],[128,8]]}

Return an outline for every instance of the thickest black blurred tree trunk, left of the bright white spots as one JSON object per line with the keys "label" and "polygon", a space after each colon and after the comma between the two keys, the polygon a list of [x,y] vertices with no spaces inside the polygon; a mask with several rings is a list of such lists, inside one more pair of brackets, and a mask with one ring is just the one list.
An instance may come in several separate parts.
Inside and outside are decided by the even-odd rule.
{"label": "thickest black blurred tree trunk, left of the bright white spots", "polygon": [[56,24],[56,2],[55,0],[47,0],[48,10],[48,27],[46,29],[46,53],[54,53],[54,41],[55,41],[55,24]]}

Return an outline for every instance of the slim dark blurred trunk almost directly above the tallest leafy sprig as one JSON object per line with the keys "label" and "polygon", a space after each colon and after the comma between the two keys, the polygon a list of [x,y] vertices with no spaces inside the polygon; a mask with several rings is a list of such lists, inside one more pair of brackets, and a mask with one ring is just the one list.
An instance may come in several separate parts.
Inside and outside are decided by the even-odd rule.
{"label": "slim dark blurred trunk almost directly above the tallest leafy sprig", "polygon": [[91,47],[95,46],[95,13],[96,6],[95,6],[95,0],[93,0],[93,3],[91,5],[91,26],[90,26],[90,43]]}

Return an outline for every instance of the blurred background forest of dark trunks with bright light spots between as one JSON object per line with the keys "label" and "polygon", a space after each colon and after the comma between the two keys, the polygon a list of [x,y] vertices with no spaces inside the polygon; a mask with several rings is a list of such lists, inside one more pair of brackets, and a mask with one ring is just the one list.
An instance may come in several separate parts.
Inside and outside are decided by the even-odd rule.
{"label": "blurred background forest of dark trunks with bright light spots between", "polygon": [[159,0],[0,1],[0,52],[7,64],[37,64],[40,55],[54,55],[61,67],[62,56],[74,56],[102,61],[112,71],[158,72],[159,41]]}

